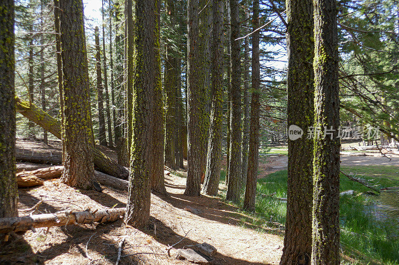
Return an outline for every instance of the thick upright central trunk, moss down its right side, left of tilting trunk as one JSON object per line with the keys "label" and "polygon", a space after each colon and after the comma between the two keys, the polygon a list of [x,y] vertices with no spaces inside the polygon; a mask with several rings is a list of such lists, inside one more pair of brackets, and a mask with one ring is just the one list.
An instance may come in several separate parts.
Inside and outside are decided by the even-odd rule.
{"label": "thick upright central trunk, moss down its right side, left of tilting trunk", "polygon": [[204,77],[205,58],[200,47],[200,19],[198,0],[188,2],[188,171],[185,195],[200,196],[201,178],[206,160],[208,128],[207,87]]}

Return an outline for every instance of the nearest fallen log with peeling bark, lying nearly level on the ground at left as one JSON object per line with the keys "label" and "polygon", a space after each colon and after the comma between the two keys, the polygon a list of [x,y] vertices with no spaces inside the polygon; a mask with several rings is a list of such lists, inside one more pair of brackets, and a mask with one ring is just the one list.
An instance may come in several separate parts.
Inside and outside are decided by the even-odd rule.
{"label": "nearest fallen log with peeling bark, lying nearly level on the ground at left", "polygon": [[0,218],[0,233],[20,232],[40,227],[113,222],[125,215],[126,208],[98,211],[60,211],[50,214],[35,214],[23,217]]}

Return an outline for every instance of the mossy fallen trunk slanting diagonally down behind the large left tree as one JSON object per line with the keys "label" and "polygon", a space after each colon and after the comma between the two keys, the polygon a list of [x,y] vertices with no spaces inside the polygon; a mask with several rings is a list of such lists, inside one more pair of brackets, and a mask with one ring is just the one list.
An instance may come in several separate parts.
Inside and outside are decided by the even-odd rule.
{"label": "mossy fallen trunk slanting diagonally down behind the large left tree", "polygon": [[[61,139],[61,123],[58,120],[48,115],[48,113],[42,109],[36,107],[34,104],[29,104],[17,96],[15,97],[15,102],[16,111],[21,113],[30,121],[41,126],[46,131],[52,133],[58,139]],[[127,179],[129,177],[129,171],[125,167],[119,165],[104,155],[96,146],[93,151],[93,159],[94,165],[101,172],[122,179]]]}

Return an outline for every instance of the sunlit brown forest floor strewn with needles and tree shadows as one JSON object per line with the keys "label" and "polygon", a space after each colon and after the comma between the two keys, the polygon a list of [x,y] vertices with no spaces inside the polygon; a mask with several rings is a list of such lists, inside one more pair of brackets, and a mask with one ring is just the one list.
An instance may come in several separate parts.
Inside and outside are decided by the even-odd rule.
{"label": "sunlit brown forest floor strewn with needles and tree shadows", "polygon": [[[18,139],[17,152],[60,152],[57,141],[50,147],[42,142]],[[103,151],[107,151],[104,150]],[[112,151],[107,155],[114,157]],[[18,167],[32,166],[21,164]],[[122,220],[99,224],[96,230],[89,225],[52,227],[27,231],[15,235],[7,243],[1,243],[0,264],[115,264],[118,243],[126,238],[121,264],[191,264],[176,260],[176,250],[187,245],[206,242],[217,249],[213,264],[278,264],[283,248],[283,234],[270,230],[260,232],[251,217],[220,197],[189,197],[183,194],[186,172],[178,171],[166,177],[170,196],[152,194],[151,226],[149,230],[137,230],[125,226]],[[219,188],[223,191],[225,185]],[[38,201],[43,203],[34,214],[56,212],[63,209],[91,210],[107,207],[125,207],[127,191],[103,186],[103,192],[79,190],[60,182],[59,179],[44,181],[44,185],[19,189],[19,216],[28,215],[26,209]],[[184,208],[191,206],[200,211],[194,214]],[[247,222],[243,221],[247,220]],[[154,233],[156,226],[156,234]],[[263,230],[264,231],[264,228]],[[185,239],[172,249],[168,246]],[[87,258],[89,256],[91,259]]]}

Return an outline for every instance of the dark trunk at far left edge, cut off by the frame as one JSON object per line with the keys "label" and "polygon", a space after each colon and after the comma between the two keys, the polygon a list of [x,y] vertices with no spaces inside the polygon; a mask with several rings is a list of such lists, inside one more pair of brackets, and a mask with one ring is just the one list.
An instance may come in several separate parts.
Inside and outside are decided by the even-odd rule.
{"label": "dark trunk at far left edge, cut off by the frame", "polygon": [[18,216],[15,177],[14,1],[0,2],[0,218]]}

